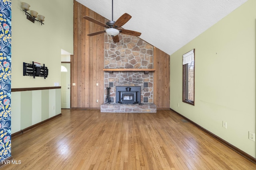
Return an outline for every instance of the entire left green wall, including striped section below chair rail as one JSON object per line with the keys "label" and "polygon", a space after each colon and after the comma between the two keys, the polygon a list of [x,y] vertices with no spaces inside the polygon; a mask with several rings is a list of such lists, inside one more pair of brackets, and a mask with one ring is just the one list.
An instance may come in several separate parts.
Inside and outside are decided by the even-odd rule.
{"label": "entire left green wall, including striped section below chair rail", "polygon": [[[73,53],[73,0],[26,0],[30,10],[45,16],[32,23],[22,11],[23,0],[12,1],[12,88],[61,86],[61,49]],[[29,12],[29,11],[28,11]],[[46,79],[23,76],[23,62],[45,64]],[[12,133],[61,113],[61,90],[12,92]]]}

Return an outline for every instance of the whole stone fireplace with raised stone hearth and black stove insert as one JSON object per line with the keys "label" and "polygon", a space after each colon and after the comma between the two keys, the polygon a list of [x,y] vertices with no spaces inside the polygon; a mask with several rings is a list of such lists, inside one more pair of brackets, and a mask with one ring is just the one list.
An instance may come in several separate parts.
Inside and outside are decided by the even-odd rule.
{"label": "whole stone fireplace with raised stone hearth and black stove insert", "polygon": [[[142,41],[138,37],[131,35],[119,34],[118,43],[112,43],[112,37],[105,34],[105,60],[104,68],[128,68],[128,69],[149,69],[153,68],[153,46]],[[106,102],[108,105],[120,105],[122,104],[143,104],[146,106],[155,106],[153,104],[153,72],[144,71],[113,71],[104,72],[104,86],[105,89],[109,88],[110,91],[109,100]],[[116,90],[117,87],[121,87],[121,90]],[[132,95],[123,96],[126,92],[126,87],[131,88]],[[134,87],[139,87],[133,90]],[[124,93],[123,93],[124,92]],[[122,94],[121,94],[122,93]],[[121,96],[120,96],[121,95]],[[105,99],[107,92],[104,93]],[[137,101],[134,101],[134,97],[138,96]],[[124,99],[126,97],[126,99]],[[130,98],[133,98],[133,101]],[[120,101],[122,99],[122,101]],[[125,100],[125,101],[124,101]],[[106,104],[105,103],[105,104]],[[126,107],[127,106],[122,106]],[[101,107],[102,109],[102,107]],[[125,110],[125,109],[124,109]],[[109,111],[104,110],[104,111]],[[149,109],[145,109],[147,112]],[[138,112],[144,112],[138,110]],[[117,110],[116,112],[122,112]],[[132,111],[137,112],[137,111]]]}

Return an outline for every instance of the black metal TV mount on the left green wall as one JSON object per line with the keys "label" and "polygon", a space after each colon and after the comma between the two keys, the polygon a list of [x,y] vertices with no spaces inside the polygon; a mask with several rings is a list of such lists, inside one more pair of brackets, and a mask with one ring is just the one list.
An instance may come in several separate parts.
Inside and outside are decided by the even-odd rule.
{"label": "black metal TV mount on the left green wall", "polygon": [[48,76],[48,68],[34,61],[32,64],[23,62],[23,76],[44,77],[45,79]]}

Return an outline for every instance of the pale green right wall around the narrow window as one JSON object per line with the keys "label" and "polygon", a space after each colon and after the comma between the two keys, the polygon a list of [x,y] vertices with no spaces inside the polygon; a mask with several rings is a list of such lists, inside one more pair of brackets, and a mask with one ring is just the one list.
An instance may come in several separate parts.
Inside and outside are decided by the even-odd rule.
{"label": "pale green right wall around the narrow window", "polygon": [[[248,0],[170,56],[170,107],[254,158],[248,131],[256,132],[255,9]],[[182,102],[182,55],[192,49],[195,106]]]}

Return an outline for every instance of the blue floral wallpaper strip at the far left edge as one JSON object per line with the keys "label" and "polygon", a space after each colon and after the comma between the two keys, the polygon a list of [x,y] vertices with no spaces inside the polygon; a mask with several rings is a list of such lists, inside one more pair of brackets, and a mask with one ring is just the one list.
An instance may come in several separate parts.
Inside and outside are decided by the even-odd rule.
{"label": "blue floral wallpaper strip at the far left edge", "polygon": [[11,0],[0,0],[0,161],[11,156]]}

